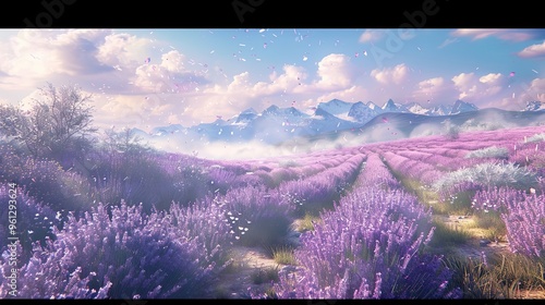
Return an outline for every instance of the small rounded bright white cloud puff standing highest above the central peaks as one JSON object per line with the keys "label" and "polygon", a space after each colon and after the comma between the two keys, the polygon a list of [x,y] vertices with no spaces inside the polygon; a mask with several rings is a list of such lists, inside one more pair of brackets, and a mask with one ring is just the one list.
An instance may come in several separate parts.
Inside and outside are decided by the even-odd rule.
{"label": "small rounded bright white cloud puff standing highest above the central peaks", "polygon": [[351,58],[346,54],[331,53],[318,62],[317,89],[340,89],[352,85],[358,70],[350,63]]}

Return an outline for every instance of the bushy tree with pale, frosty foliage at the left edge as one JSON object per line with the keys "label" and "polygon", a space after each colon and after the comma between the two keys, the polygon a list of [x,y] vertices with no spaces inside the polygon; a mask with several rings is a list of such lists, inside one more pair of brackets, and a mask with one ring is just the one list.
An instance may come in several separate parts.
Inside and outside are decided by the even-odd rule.
{"label": "bushy tree with pale, frosty foliage at the left edge", "polygon": [[92,126],[92,96],[74,85],[57,88],[50,83],[39,95],[28,110],[0,106],[0,133],[36,159],[81,155],[89,147],[88,135],[97,131]]}

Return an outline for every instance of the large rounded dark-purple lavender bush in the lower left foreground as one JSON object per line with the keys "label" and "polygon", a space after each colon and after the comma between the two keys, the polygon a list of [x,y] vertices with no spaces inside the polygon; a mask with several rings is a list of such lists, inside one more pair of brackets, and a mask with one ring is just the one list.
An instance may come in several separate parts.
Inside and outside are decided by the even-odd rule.
{"label": "large rounded dark-purple lavender bush in the lower left foreground", "polygon": [[[84,218],[71,217],[56,241],[36,247],[19,274],[24,298],[203,297],[218,266],[198,239],[184,236],[172,216],[121,203],[99,205]],[[189,222],[185,222],[189,223]],[[2,293],[9,266],[2,259]],[[44,280],[36,281],[39,277]],[[83,289],[83,291],[82,291]]]}

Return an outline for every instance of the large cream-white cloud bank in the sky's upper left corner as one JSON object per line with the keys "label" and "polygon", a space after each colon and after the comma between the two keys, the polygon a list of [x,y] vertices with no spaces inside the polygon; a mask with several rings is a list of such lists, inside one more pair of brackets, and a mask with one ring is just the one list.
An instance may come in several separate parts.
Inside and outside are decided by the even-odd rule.
{"label": "large cream-white cloud bank in the sky's upper left corner", "polygon": [[[44,82],[108,83],[129,91],[150,40],[109,29],[22,29],[0,44],[0,86],[29,89]],[[87,89],[93,89],[86,85]]]}

